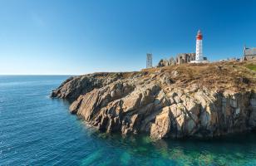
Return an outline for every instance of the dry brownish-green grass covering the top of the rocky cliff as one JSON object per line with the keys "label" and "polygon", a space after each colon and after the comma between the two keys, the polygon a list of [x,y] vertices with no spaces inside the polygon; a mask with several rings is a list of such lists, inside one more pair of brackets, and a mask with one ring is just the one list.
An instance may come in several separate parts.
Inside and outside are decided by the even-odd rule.
{"label": "dry brownish-green grass covering the top of the rocky cliff", "polygon": [[[249,70],[246,70],[248,68]],[[173,71],[177,71],[174,76]],[[256,60],[255,61],[224,61],[213,62],[209,64],[183,64],[179,66],[165,66],[160,68],[142,69],[141,71],[132,72],[110,72],[97,73],[96,77],[116,77],[122,79],[133,78],[140,75],[144,81],[160,81],[161,78],[169,76],[173,81],[173,87],[198,87],[213,88],[216,90],[256,90]],[[155,74],[151,78],[151,74]],[[249,80],[249,81],[247,81]],[[157,82],[155,82],[157,83]]]}

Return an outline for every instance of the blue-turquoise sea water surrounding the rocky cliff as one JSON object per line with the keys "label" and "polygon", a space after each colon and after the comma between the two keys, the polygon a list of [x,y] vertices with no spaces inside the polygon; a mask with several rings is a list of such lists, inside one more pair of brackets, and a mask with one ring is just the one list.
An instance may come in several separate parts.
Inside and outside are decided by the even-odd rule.
{"label": "blue-turquoise sea water surrounding the rocky cliff", "polygon": [[0,165],[255,165],[256,134],[217,140],[101,134],[49,94],[68,76],[0,76]]}

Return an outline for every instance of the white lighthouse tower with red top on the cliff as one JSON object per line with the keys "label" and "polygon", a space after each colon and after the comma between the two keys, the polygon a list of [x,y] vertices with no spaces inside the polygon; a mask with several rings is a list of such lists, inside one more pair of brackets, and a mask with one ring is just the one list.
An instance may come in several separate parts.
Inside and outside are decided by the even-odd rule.
{"label": "white lighthouse tower with red top on the cliff", "polygon": [[208,63],[207,58],[203,56],[203,35],[199,30],[196,35],[195,61],[191,63]]}

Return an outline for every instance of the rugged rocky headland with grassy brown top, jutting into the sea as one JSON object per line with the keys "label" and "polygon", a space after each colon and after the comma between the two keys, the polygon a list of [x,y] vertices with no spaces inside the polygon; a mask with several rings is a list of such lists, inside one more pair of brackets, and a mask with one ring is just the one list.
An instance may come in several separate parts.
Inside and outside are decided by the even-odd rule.
{"label": "rugged rocky headland with grassy brown top, jutting into the sea", "polygon": [[201,138],[255,129],[255,88],[255,71],[226,62],[74,76],[52,97],[104,132]]}

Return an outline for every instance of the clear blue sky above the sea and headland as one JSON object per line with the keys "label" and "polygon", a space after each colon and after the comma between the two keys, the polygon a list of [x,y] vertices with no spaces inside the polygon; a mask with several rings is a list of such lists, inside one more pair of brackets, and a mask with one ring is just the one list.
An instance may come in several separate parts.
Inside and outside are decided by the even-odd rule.
{"label": "clear blue sky above the sea and headland", "polygon": [[146,52],[216,61],[256,46],[256,1],[0,0],[0,74],[138,71]]}

